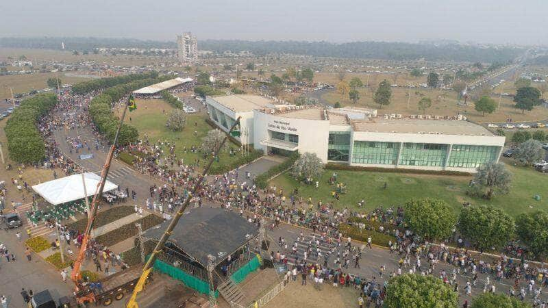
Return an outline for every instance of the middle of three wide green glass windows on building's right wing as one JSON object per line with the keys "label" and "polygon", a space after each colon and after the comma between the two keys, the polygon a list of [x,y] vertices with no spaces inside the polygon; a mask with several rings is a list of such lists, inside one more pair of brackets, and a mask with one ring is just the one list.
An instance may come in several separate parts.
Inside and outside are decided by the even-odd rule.
{"label": "middle of three wide green glass windows on building's right wing", "polygon": [[447,157],[447,148],[447,144],[404,143],[399,155],[399,164],[443,167]]}

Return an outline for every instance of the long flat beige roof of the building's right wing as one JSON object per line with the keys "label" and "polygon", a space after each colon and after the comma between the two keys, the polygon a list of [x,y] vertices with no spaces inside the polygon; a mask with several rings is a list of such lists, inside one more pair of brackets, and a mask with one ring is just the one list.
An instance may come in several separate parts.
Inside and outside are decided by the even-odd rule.
{"label": "long flat beige roof of the building's right wing", "polygon": [[465,120],[421,120],[371,118],[352,123],[354,131],[379,133],[438,133],[460,136],[495,136],[491,131]]}

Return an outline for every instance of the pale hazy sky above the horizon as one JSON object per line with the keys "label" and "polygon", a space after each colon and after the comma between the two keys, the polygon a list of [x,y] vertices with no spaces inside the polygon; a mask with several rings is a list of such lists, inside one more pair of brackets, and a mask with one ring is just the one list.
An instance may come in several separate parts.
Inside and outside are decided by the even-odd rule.
{"label": "pale hazy sky above the horizon", "polygon": [[0,36],[548,43],[548,0],[0,0],[0,12]]}

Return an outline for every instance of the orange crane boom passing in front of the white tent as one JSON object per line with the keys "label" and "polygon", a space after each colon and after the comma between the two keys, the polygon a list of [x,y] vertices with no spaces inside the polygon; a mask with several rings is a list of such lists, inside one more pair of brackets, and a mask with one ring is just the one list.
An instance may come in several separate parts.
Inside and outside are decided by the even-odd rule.
{"label": "orange crane boom passing in front of the white tent", "polygon": [[76,261],[74,262],[74,269],[71,273],[71,279],[76,285],[75,287],[76,300],[77,300],[77,303],[79,304],[84,304],[86,302],[88,303],[95,302],[95,296],[93,292],[90,292],[90,290],[82,289],[82,283],[81,283],[82,272],[80,272],[80,268],[82,268],[82,263],[86,255],[86,249],[88,248],[88,242],[90,240],[90,233],[92,229],[93,220],[95,220],[95,214],[97,213],[97,208],[99,207],[99,201],[101,201],[101,195],[103,194],[103,189],[105,188],[105,182],[107,179],[108,170],[110,170],[110,162],[112,162],[112,157],[114,157],[116,142],[118,142],[118,136],[119,136],[122,124],[124,122],[126,110],[127,110],[127,104],[125,104],[124,110],[122,112],[122,117],[120,118],[118,128],[116,129],[116,135],[114,136],[114,141],[112,142],[112,146],[110,146],[110,151],[108,151],[108,155],[105,159],[105,164],[103,165],[103,168],[101,170],[101,179],[99,180],[99,183],[97,183],[97,189],[95,190],[95,194],[93,195],[93,199],[89,209],[90,213],[88,213],[88,224],[86,225],[86,230],[84,231],[84,238],[82,238],[82,246],[80,246],[80,250],[78,251],[78,256],[76,258]]}

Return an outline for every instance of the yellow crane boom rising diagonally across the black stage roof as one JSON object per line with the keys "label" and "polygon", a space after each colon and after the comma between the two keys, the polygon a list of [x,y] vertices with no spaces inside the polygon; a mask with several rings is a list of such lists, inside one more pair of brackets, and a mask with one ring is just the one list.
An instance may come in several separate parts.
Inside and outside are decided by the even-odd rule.
{"label": "yellow crane boom rising diagonally across the black stage roof", "polygon": [[186,207],[188,207],[188,204],[190,203],[190,199],[192,198],[192,196],[194,196],[194,194],[200,188],[201,183],[203,181],[203,178],[206,177],[206,175],[208,174],[208,171],[210,170],[215,157],[219,154],[219,151],[223,147],[223,144],[225,144],[225,142],[227,141],[228,136],[230,135],[230,133],[232,133],[234,128],[236,128],[236,126],[238,126],[239,124],[240,124],[240,117],[238,116],[238,118],[236,119],[236,122],[234,122],[232,127],[230,127],[230,129],[227,133],[227,136],[225,136],[225,138],[223,138],[223,141],[221,142],[221,144],[219,144],[217,146],[217,149],[215,149],[215,151],[213,152],[213,155],[210,158],[210,161],[206,165],[206,168],[203,168],[203,172],[201,172],[201,175],[199,176],[198,180],[196,181],[196,183],[192,187],[192,190],[190,190],[190,194],[188,194],[188,197],[186,197],[186,200],[184,201],[181,209],[179,209],[179,211],[177,211],[175,213],[175,215],[171,219],[171,222],[169,222],[169,226],[167,227],[164,234],[162,234],[162,238],[160,238],[160,240],[158,241],[158,244],[156,244],[156,246],[155,246],[154,250],[152,251],[149,259],[147,260],[147,263],[142,268],[141,277],[139,278],[138,282],[135,285],[132,297],[129,298],[129,301],[127,303],[127,308],[138,308],[139,307],[137,302],[136,302],[137,294],[142,290],[143,285],[145,285],[145,281],[147,281],[147,277],[149,276],[149,273],[152,270],[152,266],[154,264],[154,261],[156,260],[156,257],[158,256],[158,253],[160,253],[163,250],[164,244],[166,244],[167,240],[169,239],[169,236],[171,235],[171,232],[173,231],[173,229],[175,228],[175,226],[179,222],[179,219],[183,216],[184,211],[186,210]]}

